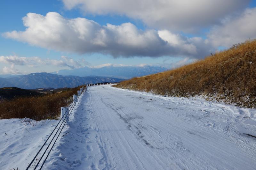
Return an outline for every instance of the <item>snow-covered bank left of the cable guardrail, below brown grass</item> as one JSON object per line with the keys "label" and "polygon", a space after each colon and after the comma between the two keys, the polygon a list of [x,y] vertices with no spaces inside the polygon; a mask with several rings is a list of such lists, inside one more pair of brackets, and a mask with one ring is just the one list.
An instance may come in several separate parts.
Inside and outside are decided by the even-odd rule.
{"label": "snow-covered bank left of the cable guardrail, below brown grass", "polygon": [[0,169],[26,169],[55,125],[56,120],[0,120]]}

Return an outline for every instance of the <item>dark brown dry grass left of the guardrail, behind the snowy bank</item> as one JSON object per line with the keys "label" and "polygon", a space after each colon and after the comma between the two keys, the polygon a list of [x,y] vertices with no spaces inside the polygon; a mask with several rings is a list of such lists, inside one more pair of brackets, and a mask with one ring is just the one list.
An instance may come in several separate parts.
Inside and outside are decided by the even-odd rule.
{"label": "dark brown dry grass left of the guardrail, behind the snowy bank", "polygon": [[0,119],[30,118],[36,121],[57,119],[60,107],[68,106],[82,86],[67,89],[60,93],[46,94],[41,97],[20,97],[0,103]]}

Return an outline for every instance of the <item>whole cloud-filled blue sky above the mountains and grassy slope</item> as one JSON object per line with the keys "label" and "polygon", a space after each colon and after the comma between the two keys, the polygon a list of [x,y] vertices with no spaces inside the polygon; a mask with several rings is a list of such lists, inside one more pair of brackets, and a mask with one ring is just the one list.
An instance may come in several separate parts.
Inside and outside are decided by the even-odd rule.
{"label": "whole cloud-filled blue sky above the mountains and grassy slope", "polygon": [[256,38],[256,0],[8,0],[0,6],[0,74],[113,64],[173,68]]}

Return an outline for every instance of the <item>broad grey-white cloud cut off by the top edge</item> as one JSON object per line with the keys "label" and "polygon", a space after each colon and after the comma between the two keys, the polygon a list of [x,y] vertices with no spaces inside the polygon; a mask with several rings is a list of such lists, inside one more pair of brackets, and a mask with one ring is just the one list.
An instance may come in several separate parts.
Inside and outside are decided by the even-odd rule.
{"label": "broad grey-white cloud cut off by the top edge", "polygon": [[140,19],[157,29],[194,32],[220,23],[250,0],[62,0],[67,9],[94,15],[116,14]]}

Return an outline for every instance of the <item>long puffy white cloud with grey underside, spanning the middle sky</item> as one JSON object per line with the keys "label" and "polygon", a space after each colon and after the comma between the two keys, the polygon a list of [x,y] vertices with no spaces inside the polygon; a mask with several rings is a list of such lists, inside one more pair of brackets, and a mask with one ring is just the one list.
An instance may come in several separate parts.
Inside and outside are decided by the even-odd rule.
{"label": "long puffy white cloud with grey underside, spanning the middle sky", "polygon": [[167,30],[138,29],[131,23],[100,26],[86,18],[68,19],[59,13],[46,16],[28,13],[25,31],[4,33],[7,38],[31,45],[76,53],[103,53],[118,56],[186,56],[203,58],[210,46],[199,37],[187,38]]}

